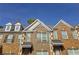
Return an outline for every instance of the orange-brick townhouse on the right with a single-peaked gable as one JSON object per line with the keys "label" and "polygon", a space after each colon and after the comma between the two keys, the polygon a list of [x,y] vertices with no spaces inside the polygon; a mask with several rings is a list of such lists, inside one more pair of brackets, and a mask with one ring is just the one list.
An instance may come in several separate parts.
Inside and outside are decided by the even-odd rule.
{"label": "orange-brick townhouse on the right with a single-peaked gable", "polygon": [[53,27],[53,54],[73,55],[79,54],[78,31],[67,22],[60,20]]}

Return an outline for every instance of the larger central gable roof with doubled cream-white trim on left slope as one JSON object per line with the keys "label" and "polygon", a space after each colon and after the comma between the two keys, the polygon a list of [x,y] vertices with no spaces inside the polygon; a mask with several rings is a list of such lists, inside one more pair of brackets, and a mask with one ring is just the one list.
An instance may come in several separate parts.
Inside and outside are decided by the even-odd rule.
{"label": "larger central gable roof with doubled cream-white trim on left slope", "polygon": [[47,25],[45,25],[42,21],[40,21],[39,19],[36,19],[32,24],[27,26],[23,31],[33,31],[33,29],[36,28],[40,24],[42,26],[44,26],[48,31],[51,31],[51,29]]}

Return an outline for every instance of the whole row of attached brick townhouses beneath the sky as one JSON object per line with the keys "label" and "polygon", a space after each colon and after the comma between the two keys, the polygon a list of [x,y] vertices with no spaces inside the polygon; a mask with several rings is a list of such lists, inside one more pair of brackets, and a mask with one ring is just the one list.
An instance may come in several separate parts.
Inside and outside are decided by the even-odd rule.
{"label": "whole row of attached brick townhouses beneath the sky", "polygon": [[4,55],[78,55],[79,25],[60,20],[49,27],[36,19],[27,27],[7,23],[0,31],[0,54]]}

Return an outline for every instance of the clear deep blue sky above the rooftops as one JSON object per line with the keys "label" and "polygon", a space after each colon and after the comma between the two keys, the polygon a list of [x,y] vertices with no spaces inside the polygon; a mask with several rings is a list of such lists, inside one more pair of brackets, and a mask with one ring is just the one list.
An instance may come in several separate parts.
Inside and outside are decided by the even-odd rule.
{"label": "clear deep blue sky above the rooftops", "polygon": [[79,4],[0,4],[0,25],[4,26],[8,22],[15,24],[19,21],[27,26],[27,20],[30,18],[39,19],[47,25],[55,25],[61,19],[71,25],[77,25],[79,24]]}

